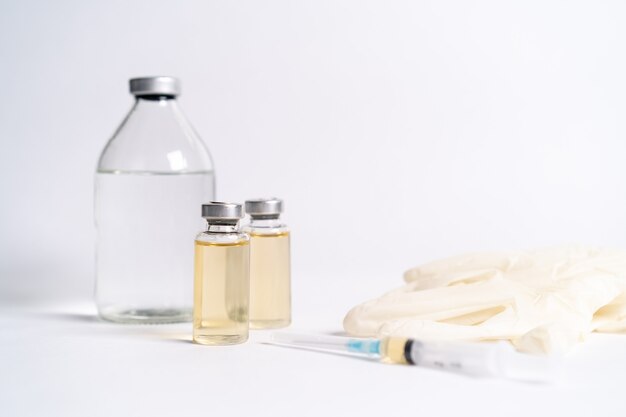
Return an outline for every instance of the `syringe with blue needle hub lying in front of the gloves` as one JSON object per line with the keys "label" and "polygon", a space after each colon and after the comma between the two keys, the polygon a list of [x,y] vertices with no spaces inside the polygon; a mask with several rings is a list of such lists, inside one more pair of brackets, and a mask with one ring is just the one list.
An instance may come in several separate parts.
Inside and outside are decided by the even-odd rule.
{"label": "syringe with blue needle hub lying in front of the gloves", "polygon": [[267,343],[339,352],[471,376],[535,382],[552,379],[554,365],[550,358],[518,353],[503,343],[426,342],[400,337],[359,339],[292,333],[273,333]]}

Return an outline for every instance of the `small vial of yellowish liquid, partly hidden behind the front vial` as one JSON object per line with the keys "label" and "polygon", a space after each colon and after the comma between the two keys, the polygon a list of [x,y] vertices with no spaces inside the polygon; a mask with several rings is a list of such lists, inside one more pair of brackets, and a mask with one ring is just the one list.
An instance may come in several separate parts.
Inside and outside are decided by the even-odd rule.
{"label": "small vial of yellowish liquid, partly hidden behind the front vial", "polygon": [[270,329],[291,323],[289,229],[280,220],[277,198],[246,201],[250,223],[250,327]]}

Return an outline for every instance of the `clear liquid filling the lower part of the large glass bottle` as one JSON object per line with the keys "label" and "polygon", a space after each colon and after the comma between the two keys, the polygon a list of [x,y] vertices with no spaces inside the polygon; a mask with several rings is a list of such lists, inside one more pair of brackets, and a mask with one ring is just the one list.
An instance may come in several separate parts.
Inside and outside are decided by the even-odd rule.
{"label": "clear liquid filling the lower part of the large glass bottle", "polygon": [[198,207],[213,173],[96,175],[100,314],[121,323],[191,321]]}

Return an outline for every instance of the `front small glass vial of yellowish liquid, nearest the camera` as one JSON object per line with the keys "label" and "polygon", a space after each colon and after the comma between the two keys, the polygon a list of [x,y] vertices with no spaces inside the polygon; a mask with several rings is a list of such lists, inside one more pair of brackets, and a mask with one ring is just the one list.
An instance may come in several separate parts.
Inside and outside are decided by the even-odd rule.
{"label": "front small glass vial of yellowish liquid, nearest the camera", "polygon": [[248,340],[250,237],[239,230],[241,204],[202,205],[207,230],[196,236],[193,341],[233,345]]}

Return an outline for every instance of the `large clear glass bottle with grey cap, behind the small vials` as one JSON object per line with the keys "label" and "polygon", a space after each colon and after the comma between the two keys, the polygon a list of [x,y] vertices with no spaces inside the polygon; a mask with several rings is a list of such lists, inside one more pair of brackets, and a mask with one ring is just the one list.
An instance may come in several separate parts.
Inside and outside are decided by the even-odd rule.
{"label": "large clear glass bottle with grey cap, behind the small vials", "polygon": [[215,198],[213,162],[183,115],[173,77],[130,80],[135,104],[100,155],[96,304],[120,323],[191,321],[197,209]]}

